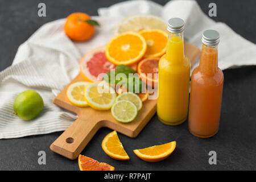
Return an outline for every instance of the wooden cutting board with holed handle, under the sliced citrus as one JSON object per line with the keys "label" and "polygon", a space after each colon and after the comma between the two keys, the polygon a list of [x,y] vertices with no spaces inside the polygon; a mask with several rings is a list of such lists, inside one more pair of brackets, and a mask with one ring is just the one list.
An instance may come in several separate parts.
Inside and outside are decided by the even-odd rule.
{"label": "wooden cutting board with holed handle, under the sliced citrus", "polygon": [[[191,60],[191,65],[195,64],[200,55],[200,49],[187,43],[185,43],[184,49],[185,55]],[[80,74],[70,84],[77,81],[84,81]],[[147,100],[143,102],[143,107],[134,121],[121,123],[115,121],[110,110],[99,111],[90,107],[72,105],[66,96],[68,86],[59,93],[53,103],[76,113],[78,119],[51,144],[50,148],[53,152],[69,159],[76,159],[101,127],[109,127],[128,137],[137,137],[156,112],[156,100]]]}

